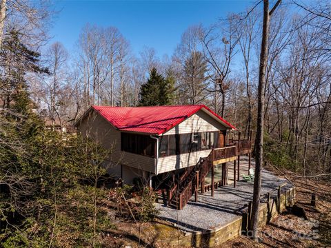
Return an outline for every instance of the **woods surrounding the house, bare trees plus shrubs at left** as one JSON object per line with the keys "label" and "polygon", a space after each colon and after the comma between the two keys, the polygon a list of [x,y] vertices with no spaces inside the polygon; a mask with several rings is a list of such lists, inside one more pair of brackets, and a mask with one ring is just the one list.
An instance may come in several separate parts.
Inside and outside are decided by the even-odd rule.
{"label": "woods surrounding the house, bare trees plus shrubs at left", "polygon": [[[245,137],[256,130],[259,3],[188,27],[160,58],[153,48],[132,52],[116,27],[89,23],[67,50],[49,42],[52,3],[1,0],[3,246],[95,246],[97,232],[112,225],[98,205],[106,198],[101,161],[111,151],[54,131],[70,129],[90,105],[205,104]],[[330,26],[328,1],[288,1],[270,22],[263,162],[308,178],[331,174]]]}

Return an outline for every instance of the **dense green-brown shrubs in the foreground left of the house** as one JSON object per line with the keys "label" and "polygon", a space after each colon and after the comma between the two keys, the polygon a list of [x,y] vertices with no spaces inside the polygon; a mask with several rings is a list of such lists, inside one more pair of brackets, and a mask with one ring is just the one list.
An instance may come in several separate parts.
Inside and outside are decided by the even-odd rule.
{"label": "dense green-brown shrubs in the foreground left of the house", "polygon": [[81,136],[46,130],[31,111],[0,115],[0,244],[94,246],[113,228],[102,199],[106,151]]}

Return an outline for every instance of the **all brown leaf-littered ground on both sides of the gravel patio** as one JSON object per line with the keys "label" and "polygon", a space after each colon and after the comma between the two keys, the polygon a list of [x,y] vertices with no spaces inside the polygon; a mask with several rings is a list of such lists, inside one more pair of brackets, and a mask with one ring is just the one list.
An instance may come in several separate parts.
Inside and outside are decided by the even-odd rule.
{"label": "all brown leaf-littered ground on both sides of the gravel patio", "polygon": [[[286,171],[284,174],[284,171],[279,173],[274,168],[267,169],[292,181],[296,191],[295,201],[305,209],[308,220],[285,211],[259,231],[259,243],[240,236],[219,247],[331,247],[331,182],[305,181],[293,172]],[[317,207],[310,205],[312,193],[317,195]],[[153,223],[125,223],[114,219],[114,222],[117,228],[101,238],[103,247],[165,247],[157,240],[183,235],[163,220]]]}

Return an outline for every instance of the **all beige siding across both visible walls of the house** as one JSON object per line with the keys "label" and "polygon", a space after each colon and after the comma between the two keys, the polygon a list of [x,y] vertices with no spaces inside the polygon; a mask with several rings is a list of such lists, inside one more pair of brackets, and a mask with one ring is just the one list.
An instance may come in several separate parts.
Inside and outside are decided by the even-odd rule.
{"label": "all beige siding across both visible walls of the house", "polygon": [[[216,121],[203,110],[199,110],[199,112],[193,114],[190,118],[179,123],[179,125],[173,127],[163,135],[192,132],[215,132],[225,129],[225,126],[219,123],[219,121]],[[121,152],[121,133],[112,127],[112,125],[110,125],[110,123],[108,123],[103,117],[99,116],[99,114],[91,112],[91,115],[88,118],[85,118],[81,125],[79,125],[79,130],[81,130],[82,134],[87,134],[93,138],[94,141],[99,142],[106,149],[112,149],[112,154],[109,158],[110,161],[134,167],[136,169],[142,169],[147,172],[155,172],[154,158],[131,154],[129,152]],[[170,172],[174,169],[194,166],[200,158],[206,157],[208,154],[210,154],[210,150],[181,154],[179,156],[160,157],[157,163],[157,174]],[[111,172],[118,174],[120,172],[119,168],[120,166],[113,167]],[[128,168],[126,168],[125,171],[128,171]]]}

